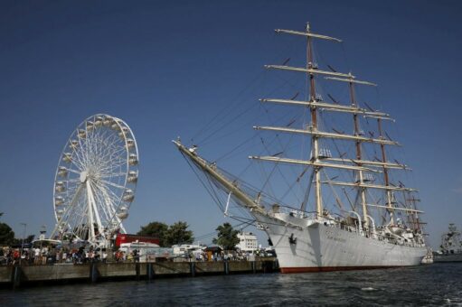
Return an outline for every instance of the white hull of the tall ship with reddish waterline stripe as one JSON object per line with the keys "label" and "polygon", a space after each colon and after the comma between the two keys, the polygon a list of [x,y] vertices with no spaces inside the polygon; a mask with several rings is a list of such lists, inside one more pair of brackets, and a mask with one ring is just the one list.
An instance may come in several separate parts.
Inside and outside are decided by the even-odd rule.
{"label": "white hull of the tall ship with reddish waterline stripe", "polygon": [[[320,223],[293,227],[268,216],[255,217],[273,243],[281,273],[420,265],[427,253],[423,246],[395,245]],[[290,237],[297,243],[291,244]]]}

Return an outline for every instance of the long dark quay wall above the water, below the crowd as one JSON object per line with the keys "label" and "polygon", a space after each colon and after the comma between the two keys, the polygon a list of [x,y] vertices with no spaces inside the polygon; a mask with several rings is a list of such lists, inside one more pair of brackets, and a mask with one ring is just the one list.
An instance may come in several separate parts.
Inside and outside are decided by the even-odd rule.
{"label": "long dark quay wall above the water, below the crowd", "polygon": [[275,258],[256,261],[9,265],[0,266],[0,286],[15,288],[33,284],[99,283],[120,279],[153,280],[164,277],[271,272],[278,272]]}

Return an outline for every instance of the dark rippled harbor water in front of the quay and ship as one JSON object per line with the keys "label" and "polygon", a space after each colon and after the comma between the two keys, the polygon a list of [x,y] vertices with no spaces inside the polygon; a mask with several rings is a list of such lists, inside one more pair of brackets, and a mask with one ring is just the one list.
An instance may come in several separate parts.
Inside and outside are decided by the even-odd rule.
{"label": "dark rippled harbor water in front of the quay and ship", "polygon": [[462,306],[462,263],[311,274],[239,274],[0,291],[1,306]]}

